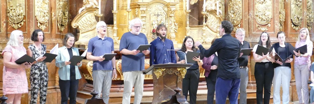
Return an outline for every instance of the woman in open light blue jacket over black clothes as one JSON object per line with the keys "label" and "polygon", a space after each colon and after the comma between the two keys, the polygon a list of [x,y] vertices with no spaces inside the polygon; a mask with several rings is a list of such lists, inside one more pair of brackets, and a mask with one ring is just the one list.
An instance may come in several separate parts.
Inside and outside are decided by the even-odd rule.
{"label": "woman in open light blue jacket over black clothes", "polygon": [[58,49],[56,57],[56,66],[59,68],[59,86],[61,91],[61,104],[76,104],[76,94],[78,90],[78,79],[82,78],[78,67],[82,66],[82,62],[69,65],[69,60],[74,55],[79,55],[78,49],[74,48],[75,38],[72,33],[67,33],[63,39],[63,46]]}

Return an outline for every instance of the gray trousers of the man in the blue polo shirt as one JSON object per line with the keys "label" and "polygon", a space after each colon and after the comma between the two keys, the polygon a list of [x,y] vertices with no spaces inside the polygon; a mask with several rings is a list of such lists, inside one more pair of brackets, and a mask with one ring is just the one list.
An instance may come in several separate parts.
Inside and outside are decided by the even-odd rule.
{"label": "gray trousers of the man in the blue polo shirt", "polygon": [[[112,70],[93,70],[92,76],[94,90],[99,93],[96,97],[102,98],[102,100],[108,104],[112,81]],[[102,96],[100,97],[101,93]]]}

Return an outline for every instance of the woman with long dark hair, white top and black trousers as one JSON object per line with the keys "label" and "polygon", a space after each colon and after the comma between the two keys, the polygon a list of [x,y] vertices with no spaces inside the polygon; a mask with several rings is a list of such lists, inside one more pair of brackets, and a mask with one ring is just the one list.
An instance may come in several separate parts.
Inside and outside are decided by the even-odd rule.
{"label": "woman with long dark hair, white top and black trousers", "polygon": [[[256,79],[256,100],[257,104],[269,104],[270,99],[270,88],[272,86],[273,76],[274,76],[274,68],[272,62],[273,52],[264,53],[263,56],[256,54],[257,46],[263,46],[265,48],[270,48],[270,39],[269,34],[267,32],[262,32],[259,42],[257,45],[253,47],[253,58],[255,61],[255,71],[254,76]],[[264,90],[264,99],[263,99],[263,90]]]}

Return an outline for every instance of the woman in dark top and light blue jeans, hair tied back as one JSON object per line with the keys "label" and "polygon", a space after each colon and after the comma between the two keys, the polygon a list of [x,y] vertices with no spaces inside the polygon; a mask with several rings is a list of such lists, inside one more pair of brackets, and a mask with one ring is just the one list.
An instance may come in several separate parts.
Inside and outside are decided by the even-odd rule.
{"label": "woman in dark top and light blue jeans, hair tied back", "polygon": [[[284,42],[285,34],[283,31],[277,33],[278,43],[273,44],[273,48],[283,60],[292,55],[292,50],[289,47],[292,47],[291,44]],[[282,103],[289,103],[289,86],[291,78],[291,62],[293,58],[281,62],[279,59],[276,59],[274,66],[274,78],[273,78],[273,102],[274,104],[280,104],[280,86],[282,85]]]}

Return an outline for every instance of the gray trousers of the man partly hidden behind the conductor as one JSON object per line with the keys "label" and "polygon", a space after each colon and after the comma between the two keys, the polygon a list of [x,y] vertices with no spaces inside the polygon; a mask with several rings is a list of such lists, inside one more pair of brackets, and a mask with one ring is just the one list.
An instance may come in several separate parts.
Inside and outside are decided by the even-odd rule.
{"label": "gray trousers of the man partly hidden behind the conductor", "polygon": [[249,81],[248,76],[249,69],[246,68],[240,68],[240,102],[239,104],[246,104],[246,87],[247,82]]}

